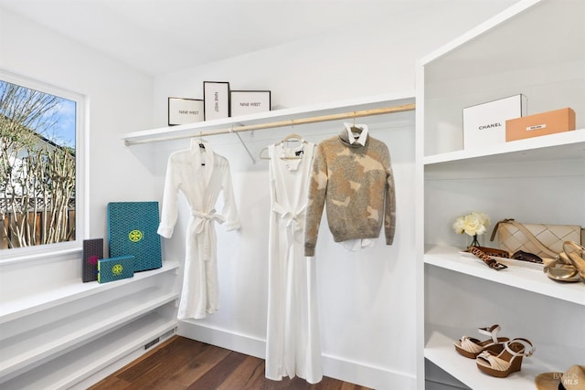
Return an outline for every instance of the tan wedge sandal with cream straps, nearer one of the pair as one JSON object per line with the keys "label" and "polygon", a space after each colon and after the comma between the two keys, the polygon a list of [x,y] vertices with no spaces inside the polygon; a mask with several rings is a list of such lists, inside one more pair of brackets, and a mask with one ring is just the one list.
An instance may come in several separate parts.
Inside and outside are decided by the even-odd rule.
{"label": "tan wedge sandal with cream straps, nearer one of the pair", "polygon": [[[527,352],[528,347],[530,351]],[[484,351],[477,355],[475,363],[485,374],[505,378],[522,369],[522,358],[531,356],[535,348],[527,339],[514,339],[504,343],[501,353]]]}

